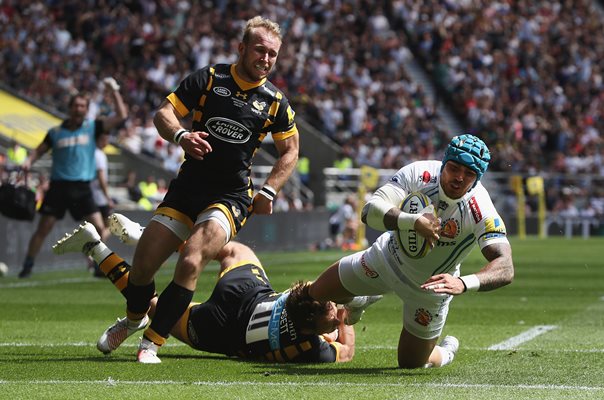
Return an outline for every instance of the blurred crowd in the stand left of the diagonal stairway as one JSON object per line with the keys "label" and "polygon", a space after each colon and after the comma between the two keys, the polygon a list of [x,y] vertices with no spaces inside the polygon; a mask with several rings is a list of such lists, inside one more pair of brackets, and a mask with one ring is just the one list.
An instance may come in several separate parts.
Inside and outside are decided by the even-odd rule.
{"label": "blurred crowd in the stand left of the diagonal stairway", "polygon": [[131,111],[121,143],[175,168],[182,154],[157,138],[152,110],[187,73],[234,62],[243,24],[261,13],[285,33],[271,79],[296,111],[356,164],[395,168],[435,154],[447,133],[402,67],[409,50],[389,11],[364,1],[8,0],[0,80],[60,108],[73,91],[99,93],[100,79],[115,77]]}

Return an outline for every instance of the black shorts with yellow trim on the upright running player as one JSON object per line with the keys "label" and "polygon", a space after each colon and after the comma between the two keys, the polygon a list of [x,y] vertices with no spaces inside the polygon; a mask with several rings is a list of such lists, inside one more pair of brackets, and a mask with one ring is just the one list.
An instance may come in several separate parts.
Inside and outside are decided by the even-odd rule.
{"label": "black shorts with yellow trim on the upright running player", "polygon": [[[216,193],[210,188],[194,187],[185,180],[177,178],[170,182],[168,192],[158,210],[161,208],[176,210],[190,219],[190,221],[181,221],[183,223],[188,222],[188,225],[194,224],[203,211],[218,208],[229,218],[233,236],[235,236],[252,212],[252,193],[251,182],[249,187],[242,190]],[[164,214],[165,212],[159,213]],[[176,215],[170,216],[177,218]]]}

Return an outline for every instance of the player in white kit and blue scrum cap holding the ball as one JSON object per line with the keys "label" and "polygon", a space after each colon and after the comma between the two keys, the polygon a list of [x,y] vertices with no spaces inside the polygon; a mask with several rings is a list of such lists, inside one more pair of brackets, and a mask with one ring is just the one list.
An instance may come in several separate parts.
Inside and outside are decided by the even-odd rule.
{"label": "player in white kit and blue scrum cap holding the ball", "polygon": [[[489,149],[476,136],[456,136],[442,161],[418,161],[401,168],[363,208],[362,221],[387,231],[368,249],[346,256],[311,285],[318,301],[346,303],[353,296],[394,292],[403,301],[398,343],[401,368],[449,364],[459,341],[445,337],[439,345],[449,303],[467,291],[489,291],[512,282],[512,249],[503,220],[480,183],[490,161]],[[413,192],[430,198],[432,213],[408,214],[399,208]],[[405,255],[397,230],[415,229],[431,251]],[[461,274],[461,263],[478,245],[486,264],[475,274]]]}

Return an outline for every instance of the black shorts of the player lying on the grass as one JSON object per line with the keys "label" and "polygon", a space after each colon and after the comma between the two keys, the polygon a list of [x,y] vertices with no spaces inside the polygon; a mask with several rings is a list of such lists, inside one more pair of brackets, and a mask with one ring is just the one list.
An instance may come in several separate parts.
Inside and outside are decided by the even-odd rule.
{"label": "black shorts of the player lying on the grass", "polygon": [[245,346],[244,330],[258,299],[272,293],[275,291],[262,268],[246,264],[228,271],[208,301],[191,308],[187,334],[192,347],[237,355]]}

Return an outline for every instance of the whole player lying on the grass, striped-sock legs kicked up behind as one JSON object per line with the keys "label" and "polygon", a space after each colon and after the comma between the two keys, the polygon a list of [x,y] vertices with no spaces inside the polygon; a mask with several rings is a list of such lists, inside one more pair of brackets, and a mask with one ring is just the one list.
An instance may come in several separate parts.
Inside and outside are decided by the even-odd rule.
{"label": "whole player lying on the grass, striped-sock legs kicked up behind", "polygon": [[[127,244],[143,228],[120,214],[110,217],[110,230]],[[128,290],[130,266],[100,240],[85,222],[53,246],[55,254],[83,252],[92,257],[122,293]],[[191,303],[170,332],[194,349],[273,362],[346,362],[354,356],[354,328],[364,309],[381,296],[357,297],[344,308],[318,302],[308,294],[308,282],[294,283],[284,293],[271,287],[258,257],[247,246],[229,242],[216,256],[218,282],[208,301]],[[157,296],[148,315],[153,318]],[[103,333],[99,351],[109,354],[138,329],[126,318]],[[139,328],[140,329],[140,328]]]}

